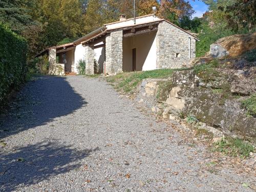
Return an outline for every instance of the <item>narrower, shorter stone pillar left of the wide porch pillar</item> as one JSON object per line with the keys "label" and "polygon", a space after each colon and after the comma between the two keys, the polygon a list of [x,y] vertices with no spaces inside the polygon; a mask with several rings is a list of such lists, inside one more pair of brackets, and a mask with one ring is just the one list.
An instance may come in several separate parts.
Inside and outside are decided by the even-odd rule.
{"label": "narrower, shorter stone pillar left of the wide porch pillar", "polygon": [[94,74],[94,50],[91,46],[86,45],[84,59],[86,60],[86,74]]}

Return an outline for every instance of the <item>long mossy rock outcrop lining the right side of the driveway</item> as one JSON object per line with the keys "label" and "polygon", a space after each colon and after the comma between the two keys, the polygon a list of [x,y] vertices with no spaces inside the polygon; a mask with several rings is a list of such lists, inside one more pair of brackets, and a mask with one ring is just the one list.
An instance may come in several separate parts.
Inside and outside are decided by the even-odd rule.
{"label": "long mossy rock outcrop lining the right side of the driveway", "polygon": [[[255,137],[256,118],[248,116],[241,108],[244,96],[256,92],[255,82],[247,73],[236,72],[220,72],[214,80],[206,82],[192,70],[174,72],[168,80],[146,79],[137,100],[153,106],[152,111],[161,112],[163,118],[193,115],[228,135]],[[253,70],[248,73],[254,75]]]}

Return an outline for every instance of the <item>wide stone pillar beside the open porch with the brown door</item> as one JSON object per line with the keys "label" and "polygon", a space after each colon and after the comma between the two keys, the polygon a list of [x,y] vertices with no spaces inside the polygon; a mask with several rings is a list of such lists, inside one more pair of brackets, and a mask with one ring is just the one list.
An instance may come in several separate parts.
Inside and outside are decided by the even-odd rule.
{"label": "wide stone pillar beside the open porch with the brown door", "polygon": [[115,31],[106,36],[106,73],[116,75],[122,72],[123,32]]}

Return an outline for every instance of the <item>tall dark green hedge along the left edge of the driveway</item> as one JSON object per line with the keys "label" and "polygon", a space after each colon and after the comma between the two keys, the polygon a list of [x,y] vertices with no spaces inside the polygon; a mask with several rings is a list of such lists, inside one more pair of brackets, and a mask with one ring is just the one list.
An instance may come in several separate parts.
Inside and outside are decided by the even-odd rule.
{"label": "tall dark green hedge along the left edge of the driveway", "polygon": [[0,109],[26,77],[27,42],[0,23]]}

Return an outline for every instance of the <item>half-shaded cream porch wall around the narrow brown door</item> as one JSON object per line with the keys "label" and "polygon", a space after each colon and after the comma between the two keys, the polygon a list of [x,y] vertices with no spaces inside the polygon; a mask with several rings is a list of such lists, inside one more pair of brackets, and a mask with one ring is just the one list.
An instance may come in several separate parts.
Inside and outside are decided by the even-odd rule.
{"label": "half-shaded cream porch wall around the narrow brown door", "polygon": [[123,38],[123,71],[133,70],[132,49],[136,48],[136,71],[156,69],[156,32]]}

